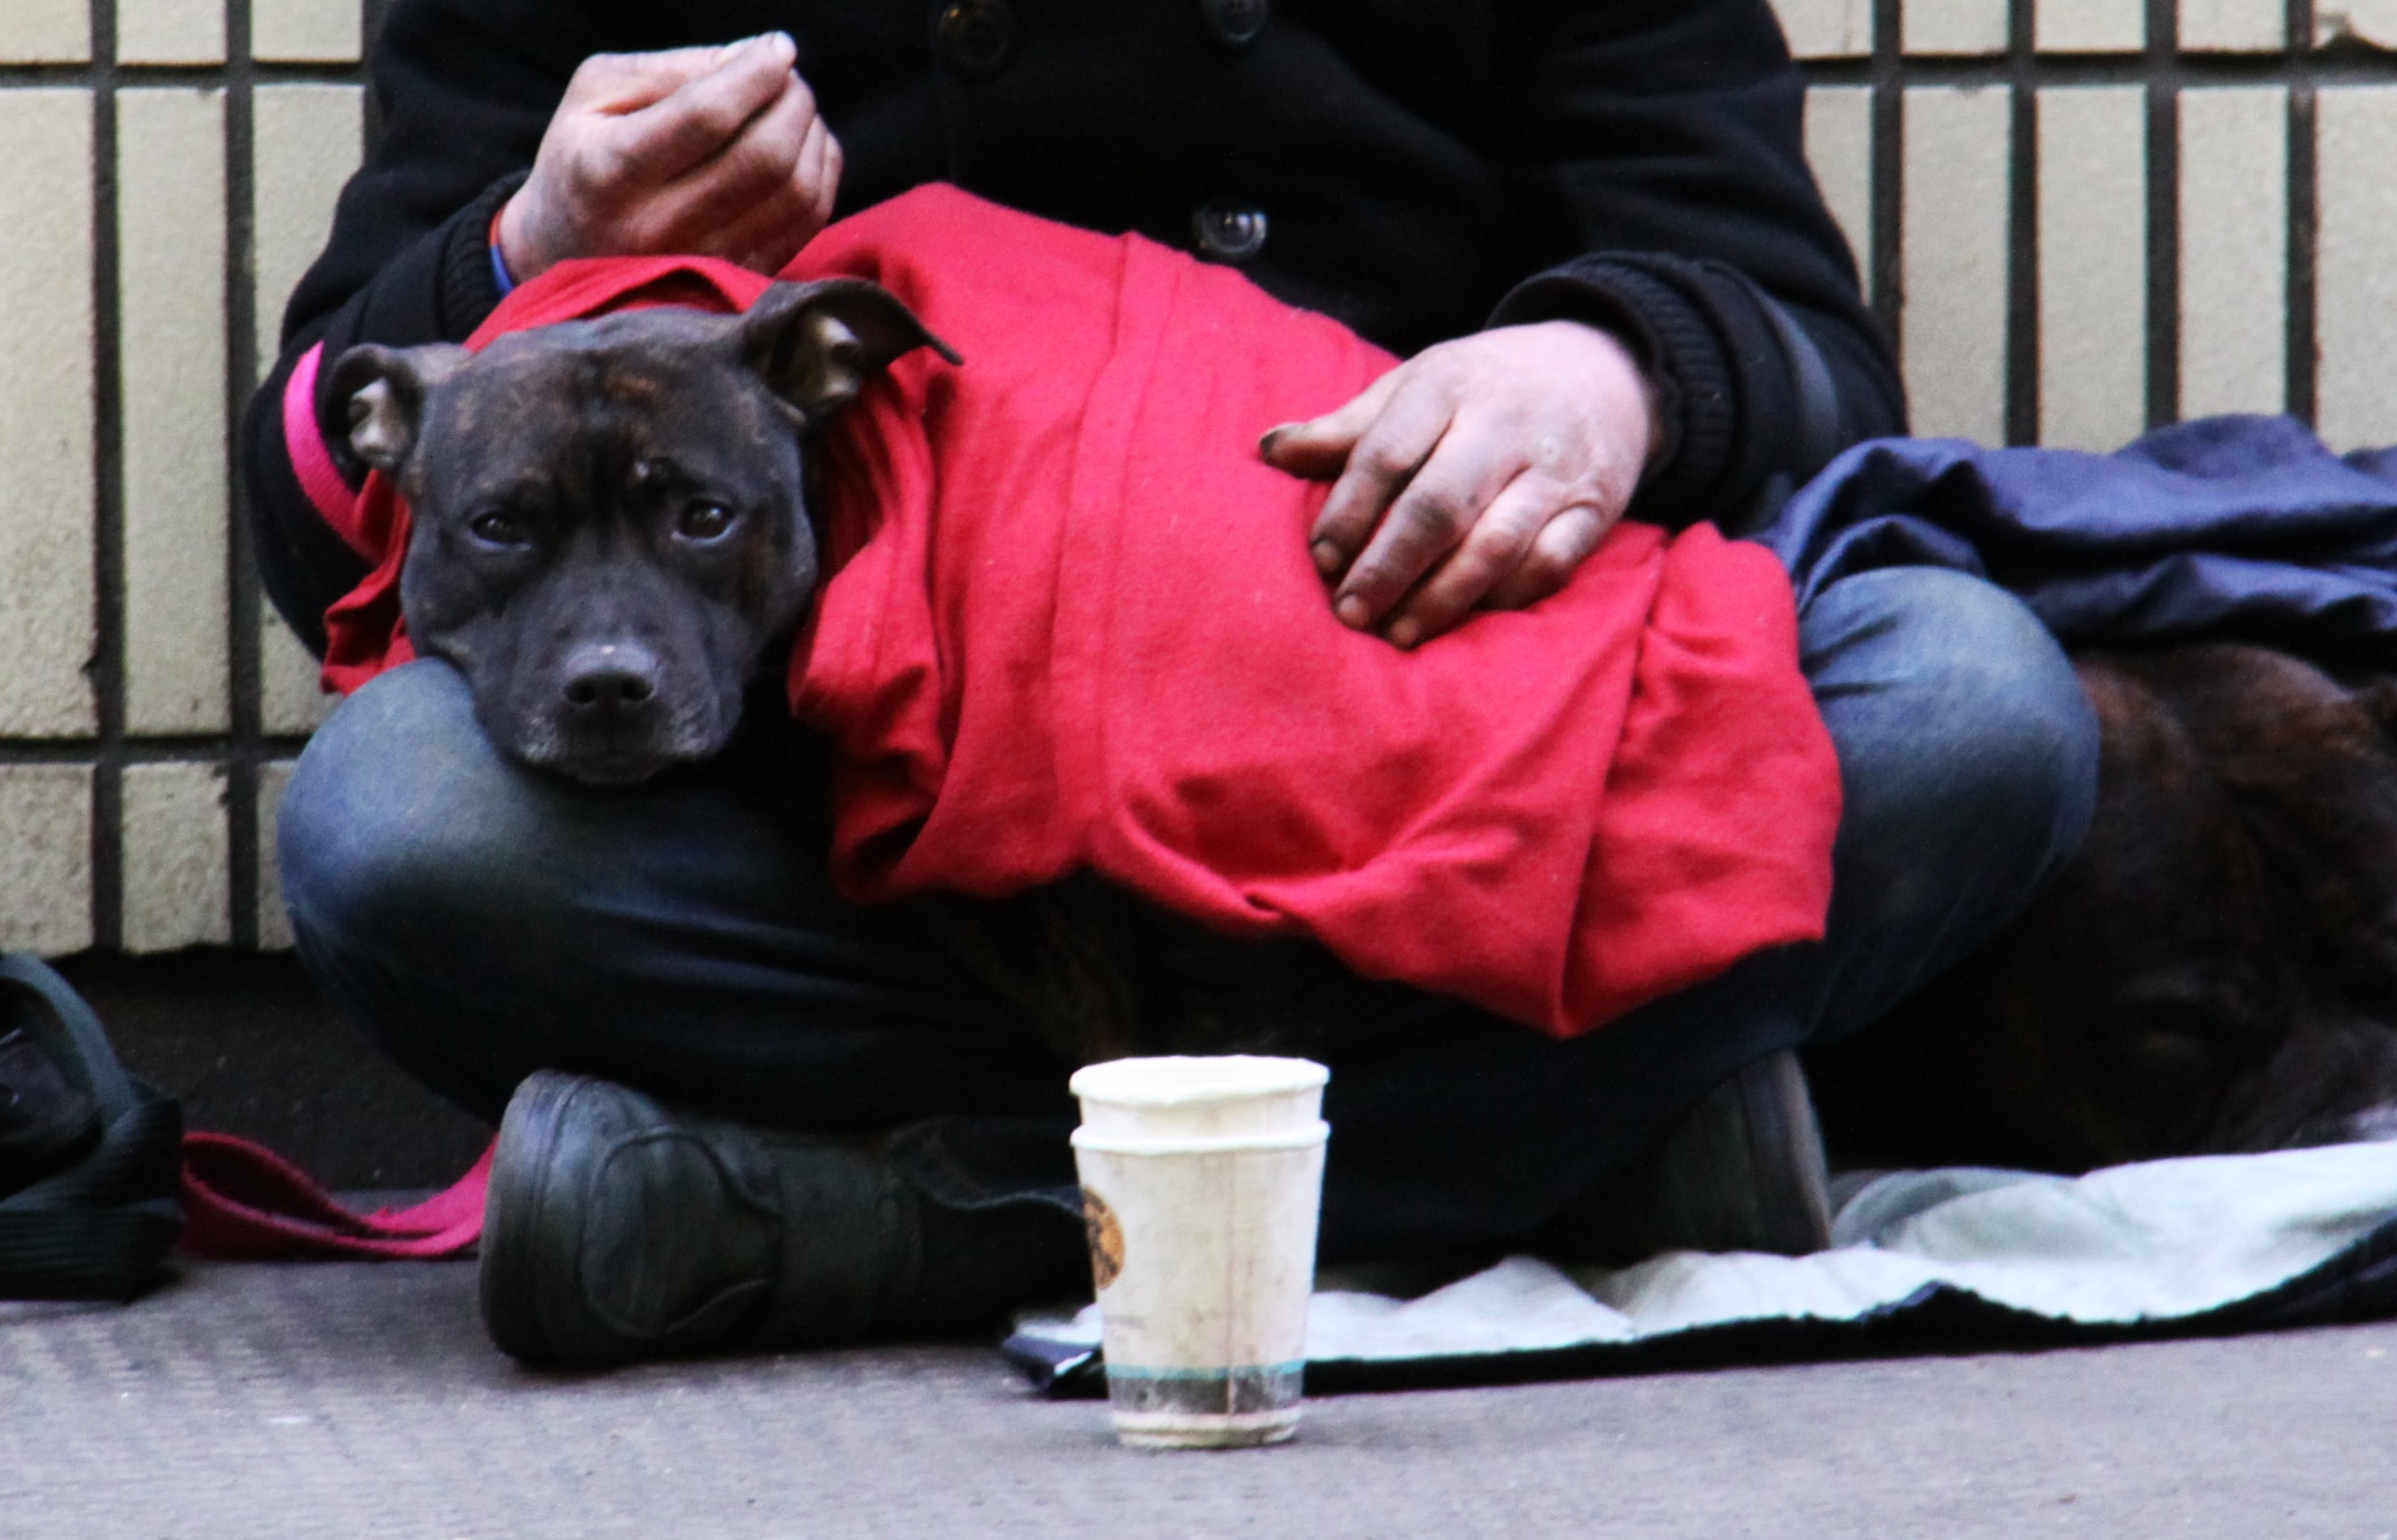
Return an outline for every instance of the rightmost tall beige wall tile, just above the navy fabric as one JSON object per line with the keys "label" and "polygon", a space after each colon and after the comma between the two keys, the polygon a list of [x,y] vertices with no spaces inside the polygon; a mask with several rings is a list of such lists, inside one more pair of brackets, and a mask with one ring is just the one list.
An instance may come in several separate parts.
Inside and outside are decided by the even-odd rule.
{"label": "rightmost tall beige wall tile, just above the navy fabric", "polygon": [[2335,448],[2397,441],[2397,86],[2318,98],[2316,419]]}

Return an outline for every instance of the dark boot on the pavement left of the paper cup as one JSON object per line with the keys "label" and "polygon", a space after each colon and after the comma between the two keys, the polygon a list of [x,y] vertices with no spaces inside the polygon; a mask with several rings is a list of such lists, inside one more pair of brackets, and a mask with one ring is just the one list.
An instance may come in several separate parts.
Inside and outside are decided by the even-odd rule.
{"label": "dark boot on the pavement left of the paper cup", "polygon": [[525,1363],[952,1334],[1074,1289],[1079,1219],[932,1202],[882,1140],[750,1128],[551,1071],[499,1126],[482,1317]]}

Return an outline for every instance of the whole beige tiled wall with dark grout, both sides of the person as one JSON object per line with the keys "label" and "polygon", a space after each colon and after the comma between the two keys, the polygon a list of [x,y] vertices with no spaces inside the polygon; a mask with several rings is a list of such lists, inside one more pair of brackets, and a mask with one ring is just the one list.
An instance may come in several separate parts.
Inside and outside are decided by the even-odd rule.
{"label": "whole beige tiled wall with dark grout, both sides of the person", "polygon": [[[381,0],[0,0],[0,946],[283,946],[321,716],[228,429]],[[2397,441],[2397,0],[1779,0],[1915,424]]]}

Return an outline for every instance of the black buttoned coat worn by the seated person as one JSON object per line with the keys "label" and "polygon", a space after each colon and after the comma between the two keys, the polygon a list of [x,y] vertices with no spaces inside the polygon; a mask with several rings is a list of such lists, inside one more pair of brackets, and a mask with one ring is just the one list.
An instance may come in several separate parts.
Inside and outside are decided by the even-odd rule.
{"label": "black buttoned coat worn by the seated person", "polygon": [[585,55],[772,29],[841,139],[841,213],[949,180],[1239,261],[1397,352],[1608,326],[1666,410],[1642,517],[1731,520],[1903,431],[1764,0],[396,0],[384,139],[244,426],[261,570],[304,639],[362,568],[283,453],[297,354],[491,311],[491,216]]}

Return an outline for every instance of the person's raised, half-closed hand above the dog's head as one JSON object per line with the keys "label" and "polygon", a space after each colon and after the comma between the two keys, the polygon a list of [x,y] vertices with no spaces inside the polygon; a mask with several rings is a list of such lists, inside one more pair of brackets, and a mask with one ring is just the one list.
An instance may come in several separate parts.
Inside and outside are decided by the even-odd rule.
{"label": "person's raised, half-closed hand above the dog's head", "polygon": [[582,60],[499,216],[518,283],[568,256],[724,256],[779,271],[825,220],[841,146],[791,38]]}

